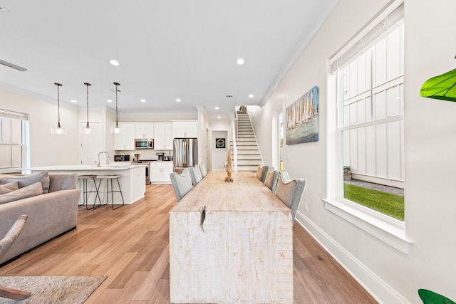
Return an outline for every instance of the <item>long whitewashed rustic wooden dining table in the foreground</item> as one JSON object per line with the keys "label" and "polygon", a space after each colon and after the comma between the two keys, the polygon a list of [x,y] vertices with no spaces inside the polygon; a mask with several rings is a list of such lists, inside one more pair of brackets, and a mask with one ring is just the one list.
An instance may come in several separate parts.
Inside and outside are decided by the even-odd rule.
{"label": "long whitewashed rustic wooden dining table in the foreground", "polygon": [[170,302],[293,303],[291,210],[254,173],[226,175],[170,210]]}

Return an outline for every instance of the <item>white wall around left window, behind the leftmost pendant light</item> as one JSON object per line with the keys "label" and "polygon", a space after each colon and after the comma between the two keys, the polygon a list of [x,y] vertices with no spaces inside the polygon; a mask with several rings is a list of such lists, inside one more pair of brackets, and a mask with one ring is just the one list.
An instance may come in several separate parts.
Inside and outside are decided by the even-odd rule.
{"label": "white wall around left window, behind the leftmost pendant light", "polygon": [[28,114],[31,167],[78,164],[78,110],[61,103],[61,126],[68,133],[51,135],[51,127],[57,126],[57,103],[0,90],[0,108]]}

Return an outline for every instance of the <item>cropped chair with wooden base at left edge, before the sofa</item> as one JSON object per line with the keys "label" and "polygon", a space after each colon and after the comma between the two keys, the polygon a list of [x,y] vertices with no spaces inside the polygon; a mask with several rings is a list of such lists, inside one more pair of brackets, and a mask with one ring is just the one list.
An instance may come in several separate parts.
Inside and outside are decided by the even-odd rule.
{"label": "cropped chair with wooden base at left edge, before the sofa", "polygon": [[[14,241],[18,238],[19,234],[21,234],[22,229],[26,225],[27,215],[23,214],[19,216],[11,229],[6,233],[3,239],[0,240],[0,258],[5,255],[5,253],[9,250],[11,245],[13,245]],[[24,300],[28,298],[30,293],[28,291],[17,290],[13,288],[7,288],[4,286],[0,286],[0,298],[8,298],[11,300]]]}

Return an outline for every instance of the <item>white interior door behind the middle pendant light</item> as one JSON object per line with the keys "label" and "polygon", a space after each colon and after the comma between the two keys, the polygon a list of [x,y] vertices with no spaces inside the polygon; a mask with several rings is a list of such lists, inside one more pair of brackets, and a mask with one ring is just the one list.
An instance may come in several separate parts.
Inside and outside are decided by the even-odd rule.
{"label": "white interior door behind the middle pendant light", "polygon": [[[86,129],[87,122],[80,122],[80,129]],[[81,164],[93,164],[98,162],[98,153],[103,151],[103,133],[101,122],[89,122],[92,132],[89,135],[79,134]],[[105,157],[105,154],[103,154]],[[102,162],[103,163],[103,162]]]}

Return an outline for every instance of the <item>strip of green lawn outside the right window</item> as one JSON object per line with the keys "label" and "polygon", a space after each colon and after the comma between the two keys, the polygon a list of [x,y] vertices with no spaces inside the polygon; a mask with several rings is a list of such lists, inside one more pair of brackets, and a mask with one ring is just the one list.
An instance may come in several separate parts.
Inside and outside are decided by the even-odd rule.
{"label": "strip of green lawn outside the right window", "polygon": [[346,199],[392,216],[395,219],[404,220],[403,196],[345,183],[343,184],[343,194]]}

